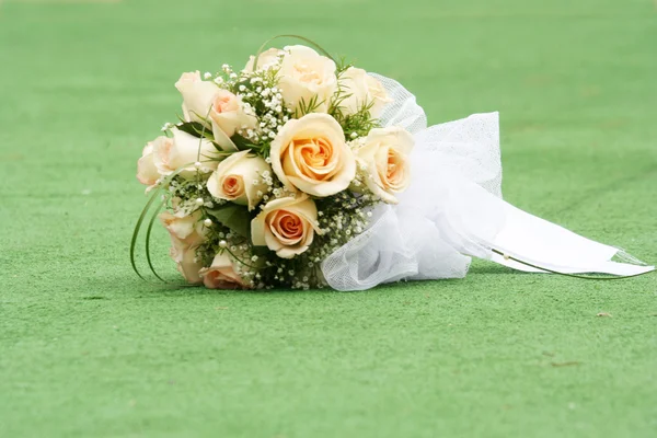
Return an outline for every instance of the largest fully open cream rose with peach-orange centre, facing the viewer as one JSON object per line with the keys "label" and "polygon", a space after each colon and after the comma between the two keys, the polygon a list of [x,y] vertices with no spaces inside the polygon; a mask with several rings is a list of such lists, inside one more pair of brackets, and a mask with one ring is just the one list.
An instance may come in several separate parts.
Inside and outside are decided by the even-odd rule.
{"label": "largest fully open cream rose with peach-orange centre, facing the viewer", "polygon": [[285,124],[272,141],[272,169],[290,191],[325,197],[349,186],[356,160],[339,124],[327,114],[308,114]]}

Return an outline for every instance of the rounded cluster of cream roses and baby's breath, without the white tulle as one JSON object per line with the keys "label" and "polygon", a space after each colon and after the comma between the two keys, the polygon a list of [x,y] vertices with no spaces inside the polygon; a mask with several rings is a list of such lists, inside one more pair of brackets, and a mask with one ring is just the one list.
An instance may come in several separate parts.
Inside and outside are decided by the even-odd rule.
{"label": "rounded cluster of cream roses and baby's breath, without the white tulle", "polygon": [[413,137],[380,126],[391,100],[362,69],[297,45],[175,87],[181,120],[143,148],[137,178],[164,191],[189,283],[322,287],[323,258],[408,185]]}

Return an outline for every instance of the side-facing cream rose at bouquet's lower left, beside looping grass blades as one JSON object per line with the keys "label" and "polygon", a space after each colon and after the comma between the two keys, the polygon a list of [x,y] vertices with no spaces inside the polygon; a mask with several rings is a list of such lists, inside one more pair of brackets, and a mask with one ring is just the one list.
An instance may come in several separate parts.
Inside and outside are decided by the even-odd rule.
{"label": "side-facing cream rose at bouquet's lower left, beside looping grass blades", "polygon": [[203,267],[196,260],[196,250],[205,242],[205,229],[200,220],[200,211],[192,215],[172,215],[165,211],[160,221],[171,235],[171,258],[176,263],[178,272],[188,283],[200,283],[199,270]]}

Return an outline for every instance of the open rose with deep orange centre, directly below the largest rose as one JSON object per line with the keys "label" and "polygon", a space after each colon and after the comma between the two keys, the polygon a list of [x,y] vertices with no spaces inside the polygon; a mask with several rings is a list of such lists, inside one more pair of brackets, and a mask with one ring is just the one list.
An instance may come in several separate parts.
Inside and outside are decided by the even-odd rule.
{"label": "open rose with deep orange centre, directly below the largest rose", "polygon": [[322,234],[318,208],[307,195],[272,200],[251,221],[253,244],[267,245],[281,258],[306,252],[315,232]]}

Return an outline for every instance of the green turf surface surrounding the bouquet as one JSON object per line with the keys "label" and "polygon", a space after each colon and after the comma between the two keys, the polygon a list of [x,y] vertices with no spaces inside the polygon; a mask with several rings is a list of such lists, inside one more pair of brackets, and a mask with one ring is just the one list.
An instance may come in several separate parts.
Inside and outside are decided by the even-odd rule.
{"label": "green turf surface surrounding the bouquet", "polygon": [[656,275],[135,277],[135,162],[180,111],[173,82],[279,33],[396,78],[431,123],[500,111],[509,201],[657,262],[648,0],[3,0],[0,436],[656,436]]}

